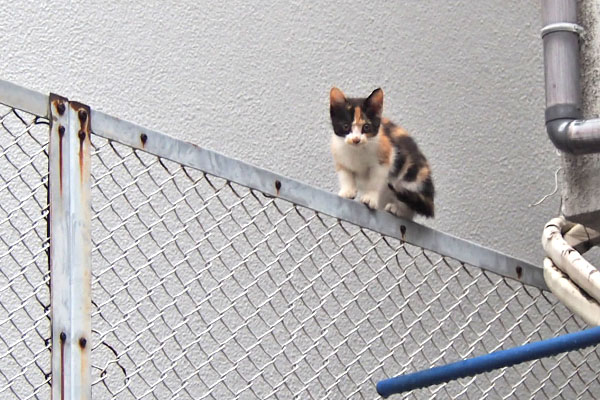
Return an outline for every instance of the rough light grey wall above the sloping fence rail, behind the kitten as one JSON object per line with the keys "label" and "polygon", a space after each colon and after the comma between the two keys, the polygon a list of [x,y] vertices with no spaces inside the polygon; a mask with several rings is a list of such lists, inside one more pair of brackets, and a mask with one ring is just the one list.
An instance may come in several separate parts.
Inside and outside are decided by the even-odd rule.
{"label": "rough light grey wall above the sloping fence rail, behind the kitten", "polygon": [[336,190],[328,91],[381,86],[438,229],[540,263],[558,212],[537,2],[6,2],[2,78]]}

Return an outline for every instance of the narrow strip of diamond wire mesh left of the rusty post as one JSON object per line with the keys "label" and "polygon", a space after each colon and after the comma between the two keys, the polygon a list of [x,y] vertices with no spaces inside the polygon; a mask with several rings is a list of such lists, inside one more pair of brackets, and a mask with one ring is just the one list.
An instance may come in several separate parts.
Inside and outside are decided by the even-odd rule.
{"label": "narrow strip of diamond wire mesh left of the rusty post", "polygon": [[48,121],[0,105],[0,397],[50,397]]}

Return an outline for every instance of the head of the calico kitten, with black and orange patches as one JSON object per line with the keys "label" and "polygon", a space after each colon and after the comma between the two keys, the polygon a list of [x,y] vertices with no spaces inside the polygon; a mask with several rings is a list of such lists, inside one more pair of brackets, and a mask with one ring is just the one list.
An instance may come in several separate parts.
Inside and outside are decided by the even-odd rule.
{"label": "head of the calico kitten, with black and orange patches", "polygon": [[329,113],[335,135],[347,144],[360,145],[377,135],[383,110],[383,90],[367,98],[349,99],[336,87],[329,92]]}

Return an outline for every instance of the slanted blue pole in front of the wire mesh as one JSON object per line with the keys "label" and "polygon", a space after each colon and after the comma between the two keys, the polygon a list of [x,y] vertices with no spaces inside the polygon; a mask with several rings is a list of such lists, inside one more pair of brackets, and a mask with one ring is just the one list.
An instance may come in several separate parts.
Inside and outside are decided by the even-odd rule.
{"label": "slanted blue pole in front of the wire mesh", "polygon": [[489,372],[494,369],[509,367],[525,361],[582,349],[598,343],[600,343],[600,326],[507,350],[499,350],[494,353],[433,367],[412,374],[385,379],[377,383],[377,393],[383,397],[388,397],[395,393],[437,385],[482,372]]}

